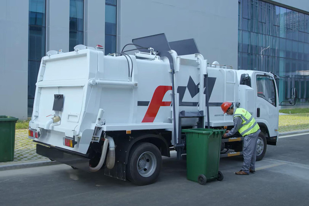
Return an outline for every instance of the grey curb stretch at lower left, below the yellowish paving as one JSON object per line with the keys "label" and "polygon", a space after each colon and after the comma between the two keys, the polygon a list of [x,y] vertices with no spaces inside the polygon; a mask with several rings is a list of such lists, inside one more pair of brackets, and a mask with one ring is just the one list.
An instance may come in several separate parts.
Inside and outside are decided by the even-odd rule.
{"label": "grey curb stretch at lower left, below the yellowish paving", "polygon": [[62,164],[57,161],[51,160],[41,160],[41,161],[34,161],[34,162],[21,162],[21,163],[12,163],[12,164],[5,164],[0,165],[0,171],[4,170],[14,170],[14,169],[23,169],[23,168],[32,168],[32,167],[40,167],[40,166],[49,166],[49,165],[56,165]]}

